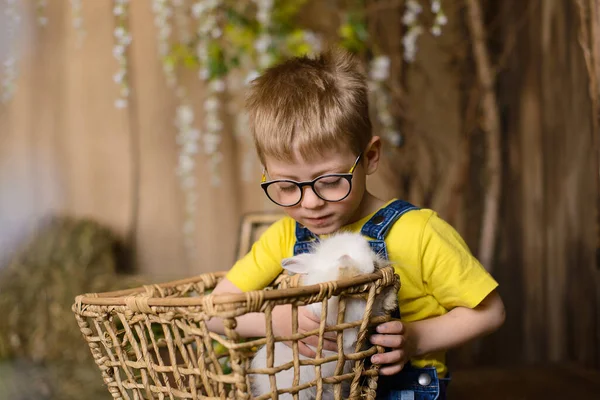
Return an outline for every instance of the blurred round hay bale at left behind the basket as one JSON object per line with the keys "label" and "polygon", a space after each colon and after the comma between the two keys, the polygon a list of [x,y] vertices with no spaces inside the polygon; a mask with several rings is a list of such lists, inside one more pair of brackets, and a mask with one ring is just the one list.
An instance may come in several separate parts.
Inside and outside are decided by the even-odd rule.
{"label": "blurred round hay bale at left behind the basket", "polygon": [[0,360],[20,365],[11,370],[16,377],[43,368],[48,398],[93,398],[96,390],[105,397],[71,305],[82,293],[140,284],[117,274],[117,248],[116,236],[94,221],[54,218],[0,269]]}

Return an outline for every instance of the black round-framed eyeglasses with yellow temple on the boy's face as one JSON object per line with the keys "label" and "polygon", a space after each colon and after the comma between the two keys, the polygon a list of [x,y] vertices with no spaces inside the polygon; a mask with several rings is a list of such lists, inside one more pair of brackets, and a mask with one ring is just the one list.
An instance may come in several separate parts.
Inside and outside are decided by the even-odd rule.
{"label": "black round-framed eyeglasses with yellow temple on the boy's face", "polygon": [[267,182],[266,170],[263,170],[260,186],[269,200],[282,207],[292,207],[300,203],[305,186],[310,186],[313,192],[322,200],[342,201],[352,191],[352,176],[362,155],[363,153],[358,155],[347,174],[321,175],[312,181],[306,182],[296,182],[290,179],[277,179]]}

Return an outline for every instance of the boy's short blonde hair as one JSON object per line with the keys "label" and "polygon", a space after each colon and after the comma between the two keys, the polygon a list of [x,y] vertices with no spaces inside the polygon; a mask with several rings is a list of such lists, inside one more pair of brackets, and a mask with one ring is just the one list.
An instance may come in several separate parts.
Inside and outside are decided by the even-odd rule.
{"label": "boy's short blonde hair", "polygon": [[305,160],[326,149],[358,155],[372,137],[368,89],[358,62],[341,50],[292,58],[252,81],[246,101],[258,156]]}

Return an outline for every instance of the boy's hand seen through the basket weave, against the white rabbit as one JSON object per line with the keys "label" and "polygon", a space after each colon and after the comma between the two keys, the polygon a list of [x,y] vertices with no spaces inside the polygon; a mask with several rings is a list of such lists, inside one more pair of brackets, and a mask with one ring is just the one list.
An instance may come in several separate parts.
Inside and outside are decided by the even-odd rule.
{"label": "boy's hand seen through the basket weave, against the white rabbit", "polygon": [[[298,333],[309,332],[319,329],[321,320],[317,318],[306,307],[298,307]],[[292,334],[292,306],[283,305],[275,307],[273,310],[273,332],[275,336],[290,336]],[[335,332],[325,333],[323,340],[323,350],[337,351]],[[319,342],[318,336],[308,336],[298,341],[298,351],[305,357],[314,358],[315,351],[308,345],[317,348]],[[291,342],[285,342],[292,346]]]}

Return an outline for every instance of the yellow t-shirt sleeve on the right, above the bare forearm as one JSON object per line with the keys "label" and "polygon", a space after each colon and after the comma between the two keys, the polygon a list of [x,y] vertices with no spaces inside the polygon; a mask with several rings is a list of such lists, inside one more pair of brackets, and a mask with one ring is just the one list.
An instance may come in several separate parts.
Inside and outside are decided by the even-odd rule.
{"label": "yellow t-shirt sleeve on the right, above the bare forearm", "polygon": [[456,230],[435,213],[421,247],[423,282],[444,308],[474,308],[498,286]]}

